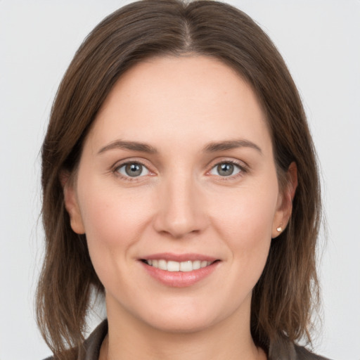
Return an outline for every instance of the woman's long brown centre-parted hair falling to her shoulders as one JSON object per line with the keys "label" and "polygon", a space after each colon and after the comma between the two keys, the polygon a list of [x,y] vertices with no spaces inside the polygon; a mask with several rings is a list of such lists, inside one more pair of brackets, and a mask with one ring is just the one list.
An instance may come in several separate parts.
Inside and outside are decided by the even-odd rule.
{"label": "woman's long brown centre-parted hair falling to her shoulders", "polygon": [[60,84],[42,146],[46,254],[37,288],[37,321],[58,359],[75,356],[84,340],[91,293],[104,290],[86,236],[70,228],[60,176],[75,171],[96,113],[126,70],[150,56],[184,53],[218,58],[252,86],[266,113],[279,184],[290,163],[297,164],[293,213],[285,231],[272,240],[253,290],[251,331],[264,349],[280,338],[310,340],[311,308],[319,300],[319,176],[302,102],[283,58],[260,27],[232,6],[146,0],[115,11],[86,37]]}

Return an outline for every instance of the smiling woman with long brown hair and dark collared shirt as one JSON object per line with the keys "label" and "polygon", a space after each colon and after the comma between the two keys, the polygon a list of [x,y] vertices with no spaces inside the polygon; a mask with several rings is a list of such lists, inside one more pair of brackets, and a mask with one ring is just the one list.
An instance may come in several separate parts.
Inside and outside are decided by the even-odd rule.
{"label": "smiling woman with long brown hair and dark collared shirt", "polygon": [[[241,11],[150,0],[105,18],[60,84],[42,186],[55,359],[322,359],[295,345],[318,303],[314,147]],[[108,319],[84,342],[96,294]]]}

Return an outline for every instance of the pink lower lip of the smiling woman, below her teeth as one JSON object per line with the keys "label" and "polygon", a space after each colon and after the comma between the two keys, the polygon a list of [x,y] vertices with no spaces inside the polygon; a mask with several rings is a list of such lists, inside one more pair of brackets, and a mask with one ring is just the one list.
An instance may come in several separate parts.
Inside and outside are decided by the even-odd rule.
{"label": "pink lower lip of the smiling woman, below her teeth", "polygon": [[213,262],[209,266],[193,271],[166,271],[150,266],[145,262],[141,262],[141,264],[148,274],[160,281],[160,283],[173,288],[186,288],[187,286],[194,285],[207,276],[210,276],[210,274],[212,274],[212,272],[217,268],[219,262]]}

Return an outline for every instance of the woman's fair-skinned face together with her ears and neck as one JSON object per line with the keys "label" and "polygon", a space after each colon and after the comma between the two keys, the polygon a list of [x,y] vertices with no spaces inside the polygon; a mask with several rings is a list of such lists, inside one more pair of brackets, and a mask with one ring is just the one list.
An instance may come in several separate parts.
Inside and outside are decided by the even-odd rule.
{"label": "woman's fair-skinned face together with her ears and neck", "polygon": [[105,287],[101,359],[266,359],[252,288],[293,193],[279,191],[264,113],[239,75],[205,56],[135,65],[74,177],[65,205]]}

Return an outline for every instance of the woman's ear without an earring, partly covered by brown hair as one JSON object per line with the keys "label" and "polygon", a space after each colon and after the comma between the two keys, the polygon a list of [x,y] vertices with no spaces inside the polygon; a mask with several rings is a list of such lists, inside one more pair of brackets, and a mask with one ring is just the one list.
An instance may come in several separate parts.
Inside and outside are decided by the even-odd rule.
{"label": "woman's ear without an earring, partly covered by brown hair", "polygon": [[71,229],[75,233],[85,233],[79,201],[77,200],[77,193],[75,190],[75,181],[68,172],[62,172],[60,174],[60,182],[63,186],[65,209],[70,216]]}

